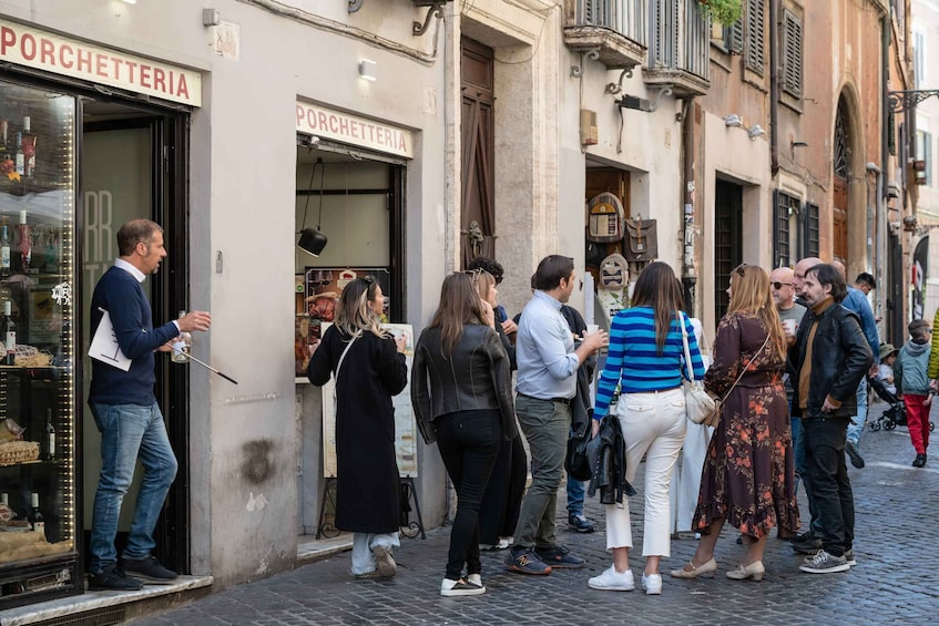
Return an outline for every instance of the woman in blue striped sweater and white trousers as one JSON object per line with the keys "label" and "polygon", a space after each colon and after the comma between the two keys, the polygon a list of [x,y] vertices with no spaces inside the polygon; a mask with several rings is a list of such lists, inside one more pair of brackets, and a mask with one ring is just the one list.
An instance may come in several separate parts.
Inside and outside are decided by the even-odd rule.
{"label": "woman in blue striped sweater and white trousers", "polygon": [[[704,362],[694,329],[684,306],[682,286],[672,268],[661,261],[649,265],[635,284],[633,307],[616,314],[610,329],[610,353],[596,387],[593,432],[610,410],[616,386],[620,400],[616,415],[626,440],[626,480],[635,479],[645,456],[645,525],[643,550],[646,594],[662,593],[659,563],[671,553],[668,485],[672,470],[685,439],[685,394],[682,378],[683,324],[696,380],[704,376]],[[613,551],[613,565],[590,579],[594,589],[627,592],[635,587],[630,571],[633,546],[629,501],[606,506],[606,550]]]}

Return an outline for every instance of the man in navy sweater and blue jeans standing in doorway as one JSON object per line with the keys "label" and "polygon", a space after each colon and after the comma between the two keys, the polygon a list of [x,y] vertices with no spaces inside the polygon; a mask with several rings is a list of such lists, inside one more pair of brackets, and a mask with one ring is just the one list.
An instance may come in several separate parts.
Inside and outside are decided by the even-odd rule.
{"label": "man in navy sweater and blue jeans standing in doorway", "polygon": [[[172,350],[169,342],[182,332],[208,330],[207,312],[193,311],[153,328],[150,301],[141,287],[166,257],[163,229],[149,219],[133,219],[118,230],[120,258],[94,288],[91,298],[92,335],[108,311],[121,352],[131,360],[127,371],[92,359],[88,403],[101,432],[101,475],[91,523],[89,587],[140,589],[142,581],[167,583],[176,577],[152,551],[153,530],[170,485],[176,476],[176,456],[170,447],[163,414],[156,403],[154,352]],[[114,537],[121,502],[134,476],[137,459],[144,474],[127,545],[118,561]],[[127,574],[132,574],[129,576]]]}

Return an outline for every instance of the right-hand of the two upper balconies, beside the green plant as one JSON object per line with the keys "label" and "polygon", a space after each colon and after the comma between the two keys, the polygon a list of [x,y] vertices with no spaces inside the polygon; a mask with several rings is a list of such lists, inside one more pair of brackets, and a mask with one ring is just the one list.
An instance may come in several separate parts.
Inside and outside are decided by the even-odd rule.
{"label": "right-hand of the two upper balconies, beside the green plant", "polygon": [[710,86],[711,23],[697,0],[651,0],[645,82],[675,95],[703,95]]}

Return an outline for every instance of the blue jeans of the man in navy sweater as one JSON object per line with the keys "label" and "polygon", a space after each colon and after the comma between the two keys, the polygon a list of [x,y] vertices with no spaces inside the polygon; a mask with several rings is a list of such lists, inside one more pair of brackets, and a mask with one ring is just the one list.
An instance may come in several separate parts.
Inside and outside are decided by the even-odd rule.
{"label": "blue jeans of the man in navy sweater", "polygon": [[177,465],[156,403],[141,407],[89,402],[89,406],[101,433],[101,475],[94,493],[89,563],[89,572],[99,574],[118,562],[114,547],[118,517],[133,481],[137,458],[143,465],[143,481],[124,558],[145,558],[156,545],[153,530],[176,476]]}

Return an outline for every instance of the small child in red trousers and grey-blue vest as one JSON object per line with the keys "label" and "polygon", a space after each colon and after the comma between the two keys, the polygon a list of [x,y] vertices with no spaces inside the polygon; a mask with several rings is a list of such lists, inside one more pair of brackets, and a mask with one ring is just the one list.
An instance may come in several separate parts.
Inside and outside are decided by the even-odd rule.
{"label": "small child in red trousers and grey-blue vest", "polygon": [[926,466],[926,449],[929,448],[929,408],[932,392],[929,386],[930,335],[932,329],[925,319],[915,319],[909,326],[910,340],[900,348],[894,366],[897,391],[904,397],[907,410],[907,428],[916,450],[914,468]]}

